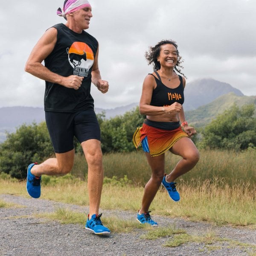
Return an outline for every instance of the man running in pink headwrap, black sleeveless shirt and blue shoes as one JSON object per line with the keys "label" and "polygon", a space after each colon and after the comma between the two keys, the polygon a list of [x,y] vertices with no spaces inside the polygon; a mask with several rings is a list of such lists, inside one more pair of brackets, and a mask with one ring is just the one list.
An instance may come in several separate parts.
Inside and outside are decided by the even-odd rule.
{"label": "man running in pink headwrap, black sleeveless shirt and blue shoes", "polygon": [[[98,41],[84,29],[93,17],[87,0],[65,0],[57,11],[67,22],[47,29],[26,62],[25,71],[45,80],[44,110],[56,158],[28,166],[27,192],[41,195],[41,175],[63,175],[74,163],[75,136],[81,143],[88,164],[89,215],[87,230],[97,235],[110,234],[102,225],[99,204],[103,184],[100,128],[90,94],[91,82],[108,92],[98,67]],[[42,62],[44,61],[44,65]]]}

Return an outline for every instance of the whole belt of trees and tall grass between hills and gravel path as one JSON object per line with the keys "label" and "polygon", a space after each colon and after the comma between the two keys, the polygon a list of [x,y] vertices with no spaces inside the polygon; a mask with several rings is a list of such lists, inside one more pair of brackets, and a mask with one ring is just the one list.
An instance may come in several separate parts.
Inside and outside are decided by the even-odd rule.
{"label": "whole belt of trees and tall grass between hills and gravel path", "polygon": [[[150,210],[154,214],[192,221],[256,228],[254,112],[255,105],[241,108],[234,105],[199,129],[193,140],[201,158],[192,171],[177,180],[180,202],[171,201],[166,191],[160,189]],[[136,150],[131,141],[135,128],[143,123],[143,116],[137,108],[109,120],[102,113],[98,119],[102,128],[105,169],[101,208],[136,213],[143,187],[151,175],[142,150]],[[76,141],[75,149],[75,165],[69,175],[42,177],[41,198],[88,205],[87,163]],[[7,140],[0,144],[0,194],[28,197],[28,163],[40,163],[51,154],[52,146],[44,123],[22,125],[16,133],[8,134]],[[178,160],[178,156],[166,153],[166,172],[170,172]],[[68,211],[64,213],[68,215]]]}

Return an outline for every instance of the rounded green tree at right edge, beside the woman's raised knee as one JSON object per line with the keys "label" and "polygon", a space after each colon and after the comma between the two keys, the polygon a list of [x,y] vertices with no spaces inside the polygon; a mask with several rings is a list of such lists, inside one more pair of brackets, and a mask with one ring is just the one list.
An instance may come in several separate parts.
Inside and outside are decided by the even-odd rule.
{"label": "rounded green tree at right edge, beside the woman's raised knee", "polygon": [[240,109],[233,105],[218,115],[202,132],[203,148],[244,150],[256,146],[255,105],[244,105]]}

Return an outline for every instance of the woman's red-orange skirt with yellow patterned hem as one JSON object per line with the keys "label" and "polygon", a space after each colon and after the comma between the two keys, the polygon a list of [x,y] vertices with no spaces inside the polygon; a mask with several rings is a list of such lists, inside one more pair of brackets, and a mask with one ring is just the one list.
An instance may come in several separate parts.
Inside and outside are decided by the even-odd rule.
{"label": "woman's red-orange skirt with yellow patterned hem", "polygon": [[183,137],[189,137],[181,127],[175,130],[162,130],[143,124],[134,132],[133,143],[138,149],[142,140],[147,136],[148,147],[152,157],[157,157],[172,148],[177,140]]}

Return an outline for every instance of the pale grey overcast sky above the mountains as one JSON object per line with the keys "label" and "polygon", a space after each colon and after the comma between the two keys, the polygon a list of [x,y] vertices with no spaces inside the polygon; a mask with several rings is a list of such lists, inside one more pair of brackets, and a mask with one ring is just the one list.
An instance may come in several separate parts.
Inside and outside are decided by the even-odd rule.
{"label": "pale grey overcast sky above the mountains", "polygon": [[[0,107],[43,107],[44,81],[24,72],[44,31],[65,23],[64,0],[8,0],[0,8]],[[144,54],[162,39],[178,44],[187,86],[212,78],[256,95],[256,0],[91,0],[91,35],[99,41],[99,68],[107,94],[93,85],[97,108],[139,102],[152,72]],[[186,90],[186,89],[185,89]],[[206,92],[207,93],[207,92]]]}

